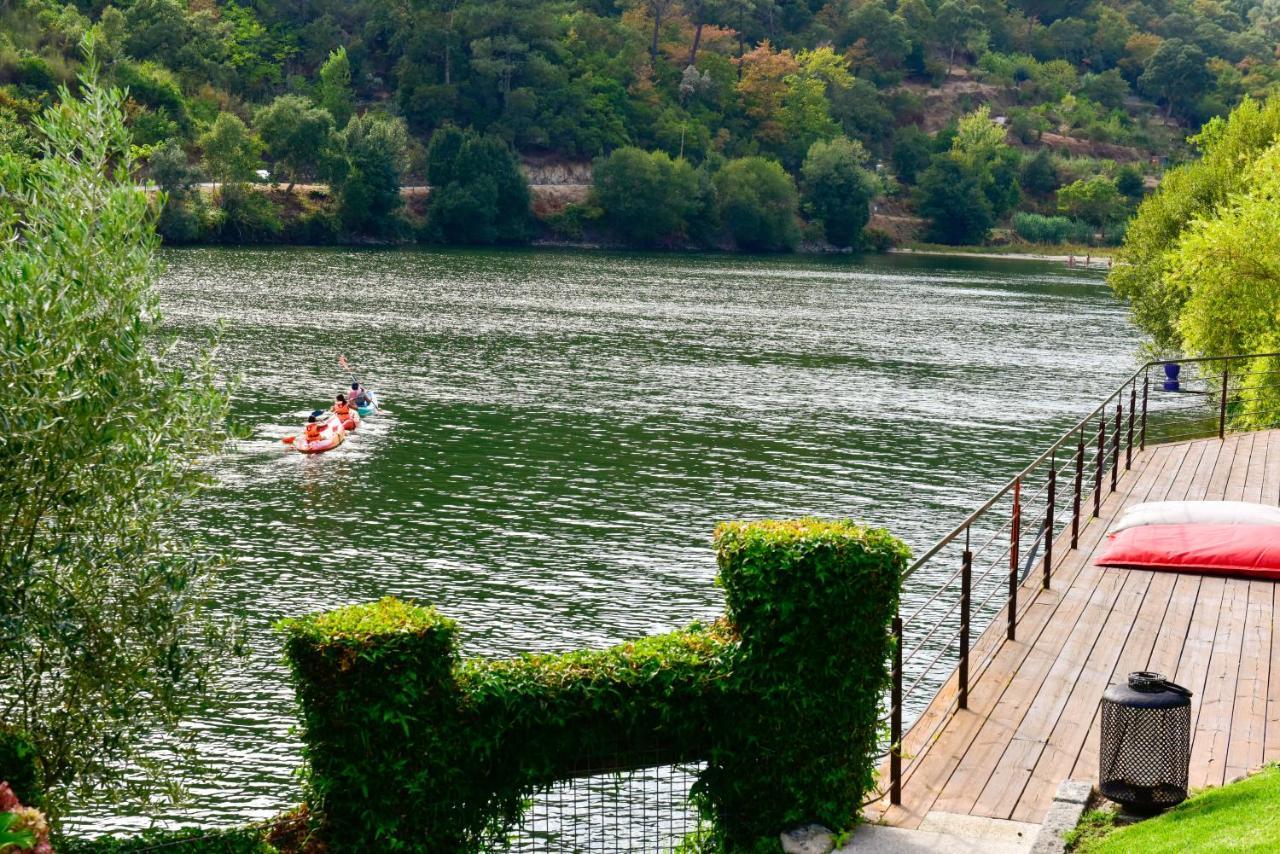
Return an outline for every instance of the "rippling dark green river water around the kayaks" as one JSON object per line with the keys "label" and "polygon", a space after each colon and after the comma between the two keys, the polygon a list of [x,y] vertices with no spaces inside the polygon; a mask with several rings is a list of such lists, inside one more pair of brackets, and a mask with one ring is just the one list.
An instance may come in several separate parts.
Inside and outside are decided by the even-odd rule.
{"label": "rippling dark green river water around the kayaks", "polygon": [[[410,597],[457,618],[476,656],[708,618],[718,520],[854,516],[923,549],[1128,374],[1137,343],[1100,275],[1023,261],[165,262],[179,335],[227,323],[220,359],[251,430],[195,516],[236,557],[220,607],[252,640],[230,709],[200,722],[209,773],[169,816],[209,825],[300,798],[279,617]],[[388,412],[330,453],[294,453],[280,437],[349,382],[339,353]]]}

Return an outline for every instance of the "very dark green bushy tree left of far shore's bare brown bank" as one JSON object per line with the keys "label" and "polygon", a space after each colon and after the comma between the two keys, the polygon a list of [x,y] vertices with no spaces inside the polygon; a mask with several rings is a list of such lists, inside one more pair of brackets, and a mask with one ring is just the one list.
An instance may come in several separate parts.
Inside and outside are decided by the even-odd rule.
{"label": "very dark green bushy tree left of far shore's bare brown bank", "polygon": [[431,184],[428,225],[449,243],[520,243],[529,239],[529,179],[502,140],[452,125],[426,150]]}

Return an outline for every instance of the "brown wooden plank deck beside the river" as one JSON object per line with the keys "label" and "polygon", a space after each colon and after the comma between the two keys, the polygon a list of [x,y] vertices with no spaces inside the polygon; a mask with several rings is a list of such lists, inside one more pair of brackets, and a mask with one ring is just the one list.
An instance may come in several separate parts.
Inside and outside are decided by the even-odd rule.
{"label": "brown wooden plank deck beside the river", "polygon": [[1055,544],[1052,589],[1030,574],[1018,640],[1005,640],[1000,615],[975,644],[973,661],[998,652],[972,685],[969,709],[923,743],[955,697],[952,676],[906,734],[914,762],[902,804],[886,798],[868,809],[872,819],[915,827],[940,812],[1042,822],[1060,781],[1097,780],[1102,691],[1135,670],[1194,691],[1193,787],[1280,759],[1276,584],[1092,563],[1123,507],[1183,498],[1280,502],[1280,430],[1135,455],[1101,519],[1080,531],[1080,548],[1070,549],[1069,534]]}

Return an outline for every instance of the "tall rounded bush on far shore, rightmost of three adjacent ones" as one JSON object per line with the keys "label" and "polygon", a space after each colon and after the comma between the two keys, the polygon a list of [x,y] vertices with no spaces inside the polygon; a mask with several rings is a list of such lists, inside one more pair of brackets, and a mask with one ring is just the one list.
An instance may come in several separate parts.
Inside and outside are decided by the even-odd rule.
{"label": "tall rounded bush on far shore, rightmost of three adjacent ones", "polygon": [[832,246],[856,245],[870,220],[879,182],[865,169],[868,159],[860,142],[838,137],[814,142],[800,168],[805,211],[822,223]]}

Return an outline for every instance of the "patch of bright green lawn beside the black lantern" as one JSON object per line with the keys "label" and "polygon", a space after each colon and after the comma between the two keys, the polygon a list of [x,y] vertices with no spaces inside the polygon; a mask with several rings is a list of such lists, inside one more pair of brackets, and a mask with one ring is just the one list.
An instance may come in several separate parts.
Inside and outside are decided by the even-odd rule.
{"label": "patch of bright green lawn beside the black lantern", "polygon": [[1158,818],[1082,839],[1089,854],[1280,851],[1280,767],[1189,798]]}

